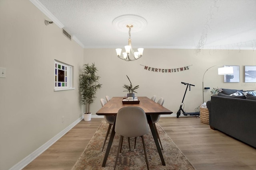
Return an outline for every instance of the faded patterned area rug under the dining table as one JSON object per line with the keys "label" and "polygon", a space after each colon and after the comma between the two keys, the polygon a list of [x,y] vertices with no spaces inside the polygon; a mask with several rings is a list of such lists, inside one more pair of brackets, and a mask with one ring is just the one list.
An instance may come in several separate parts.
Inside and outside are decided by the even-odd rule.
{"label": "faded patterned area rug under the dining table", "polygon": [[[184,154],[173,143],[172,139],[164,132],[162,127],[156,123],[163,149],[162,153],[166,166],[162,165],[156,144],[149,129],[148,135],[144,135],[146,151],[148,155],[149,168],[151,170],[195,170]],[[102,161],[108,144],[105,148],[102,145],[105,139],[108,123],[103,121],[89,144],[81,154],[72,170],[113,170],[116,159],[116,151],[119,142],[119,135],[115,135],[106,166],[102,167]],[[110,135],[109,135],[110,136]],[[142,139],[137,138],[136,149],[134,149],[134,138],[130,139],[131,151],[129,150],[128,138],[124,137],[122,152],[118,156],[117,170],[144,170],[147,169],[145,155],[142,146]]]}

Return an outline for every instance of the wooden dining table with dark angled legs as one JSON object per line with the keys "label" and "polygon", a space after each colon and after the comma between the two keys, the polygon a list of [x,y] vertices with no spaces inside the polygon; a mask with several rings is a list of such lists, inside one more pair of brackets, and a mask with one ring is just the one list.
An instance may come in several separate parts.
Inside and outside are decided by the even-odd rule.
{"label": "wooden dining table with dark angled legs", "polygon": [[[151,119],[150,115],[172,114],[172,111],[170,111],[169,109],[166,109],[165,107],[161,106],[160,104],[150,100],[148,97],[138,97],[138,100],[140,101],[139,104],[123,104],[122,103],[123,99],[124,99],[123,97],[113,97],[113,98],[111,98],[111,100],[109,100],[101,109],[99,109],[96,112],[96,115],[116,115],[119,109],[121,109],[122,107],[128,107],[128,106],[137,106],[137,107],[142,108],[146,113],[148,124],[149,124],[150,130],[152,132],[152,136],[154,138],[154,141],[156,143],[156,148],[158,150],[160,159],[162,161],[162,165],[165,165],[162,150],[161,150],[160,145],[158,143],[158,137],[156,135],[156,129],[154,128],[154,125],[153,125],[153,122],[152,122],[152,119]],[[104,159],[103,159],[103,162],[102,162],[102,167],[106,166],[106,162],[107,162],[107,159],[108,159],[108,154],[110,152],[110,148],[112,146],[114,136],[115,136],[115,130],[114,129],[115,129],[115,123],[112,127],[110,139],[108,141],[108,146],[107,146],[105,156],[104,156]]]}

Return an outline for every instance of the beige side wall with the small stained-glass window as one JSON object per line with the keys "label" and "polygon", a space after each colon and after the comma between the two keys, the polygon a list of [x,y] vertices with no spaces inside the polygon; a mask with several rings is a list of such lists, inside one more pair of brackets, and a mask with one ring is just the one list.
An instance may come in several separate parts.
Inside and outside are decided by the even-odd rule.
{"label": "beige side wall with the small stained-glass window", "polygon": [[[83,49],[29,0],[0,0],[0,169],[7,170],[82,116]],[[54,59],[74,66],[75,90],[54,92]],[[64,116],[64,123],[62,123]]]}

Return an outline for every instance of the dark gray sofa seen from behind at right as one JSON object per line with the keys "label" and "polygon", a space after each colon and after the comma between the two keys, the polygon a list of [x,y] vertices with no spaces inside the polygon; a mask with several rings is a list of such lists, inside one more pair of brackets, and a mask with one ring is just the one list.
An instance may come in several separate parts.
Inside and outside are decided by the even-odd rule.
{"label": "dark gray sofa seen from behind at right", "polygon": [[211,129],[256,148],[256,100],[211,96],[206,105]]}

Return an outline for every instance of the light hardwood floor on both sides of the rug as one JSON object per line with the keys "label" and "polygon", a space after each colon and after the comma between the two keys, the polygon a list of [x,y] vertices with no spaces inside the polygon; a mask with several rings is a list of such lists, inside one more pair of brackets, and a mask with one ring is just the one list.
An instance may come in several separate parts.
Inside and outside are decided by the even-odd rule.
{"label": "light hardwood floor on both sides of the rug", "polygon": [[[98,129],[102,118],[81,121],[24,170],[70,170]],[[161,117],[158,123],[197,170],[256,170],[256,149],[197,117]]]}

